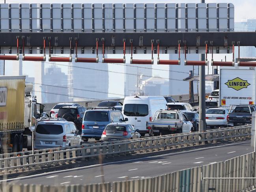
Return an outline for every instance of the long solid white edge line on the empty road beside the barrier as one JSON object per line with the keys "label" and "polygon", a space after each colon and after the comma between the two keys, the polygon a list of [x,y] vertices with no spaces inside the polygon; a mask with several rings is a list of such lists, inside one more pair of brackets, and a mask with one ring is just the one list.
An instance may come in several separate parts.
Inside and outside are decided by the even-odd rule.
{"label": "long solid white edge line on the empty road beside the barrier", "polygon": [[[54,174],[54,173],[55,174],[56,173],[63,173],[63,172],[66,172],[66,171],[75,171],[75,170],[81,170],[81,169],[85,169],[85,168],[92,168],[92,167],[104,166],[104,165],[109,165],[109,164],[116,164],[116,163],[127,162],[127,161],[134,161],[134,160],[141,160],[141,159],[155,158],[155,157],[164,157],[164,156],[168,156],[168,155],[176,155],[176,154],[187,153],[187,152],[192,152],[192,151],[202,151],[202,150],[207,150],[207,149],[226,147],[226,146],[229,146],[229,145],[246,144],[246,143],[249,143],[249,142],[250,141],[243,141],[243,142],[236,142],[236,143],[232,143],[232,144],[224,144],[224,145],[218,145],[218,146],[213,146],[213,147],[202,147],[202,148],[191,149],[191,150],[187,150],[187,151],[170,152],[170,153],[166,153],[166,154],[163,154],[163,155],[154,155],[154,156],[149,156],[149,157],[142,157],[142,158],[122,160],[122,161],[108,162],[108,163],[103,163],[103,164],[94,164],[94,165],[89,165],[89,166],[71,168],[71,169],[67,169],[67,170],[58,170],[58,171],[51,171],[51,172],[47,172],[47,173],[39,173],[39,174],[35,174],[35,175],[28,175],[28,176],[23,176],[23,177],[4,179],[4,180],[0,180],[0,182],[15,181],[15,180],[27,179],[27,178],[31,178],[31,177],[38,177],[38,176],[42,176],[42,175],[50,175],[50,174]],[[245,153],[245,154],[247,154],[247,153]]]}

